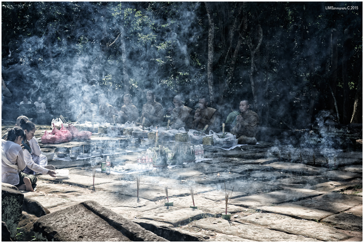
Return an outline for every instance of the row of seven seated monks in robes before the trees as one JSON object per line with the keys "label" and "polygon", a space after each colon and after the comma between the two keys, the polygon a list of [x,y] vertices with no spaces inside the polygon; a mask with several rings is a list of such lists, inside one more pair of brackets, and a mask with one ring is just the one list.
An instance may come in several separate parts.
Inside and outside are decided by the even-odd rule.
{"label": "row of seven seated monks in robes before the trees", "polygon": [[[139,116],[138,108],[131,103],[132,96],[130,94],[124,95],[124,105],[121,111],[107,103],[104,94],[99,95],[99,108],[96,104],[90,102],[88,96],[83,97],[81,104],[82,111],[77,116],[77,121],[84,123],[86,120],[90,121],[92,114],[96,115],[94,121],[114,123],[113,116],[116,117],[116,122],[124,124],[127,121],[134,121],[135,124],[141,125],[143,118],[145,118],[144,125],[157,126],[163,121],[163,107],[160,103],[155,101],[155,94],[153,91],[148,91],[146,94],[147,103],[143,105],[141,116]],[[220,131],[220,120],[218,111],[214,108],[207,107],[206,97],[200,97],[197,108],[195,111],[183,105],[182,97],[176,95],[173,98],[175,108],[172,111],[172,120],[170,123],[171,128],[179,129],[184,127],[186,130],[194,129],[197,131],[203,130],[206,125],[209,125],[209,130]],[[257,132],[257,124],[259,117],[257,113],[249,109],[249,101],[242,100],[239,105],[239,113],[230,113],[227,120],[233,120],[231,133],[237,135],[239,144],[256,144],[255,139]],[[233,114],[234,113],[234,114]],[[233,119],[231,119],[233,115]]]}

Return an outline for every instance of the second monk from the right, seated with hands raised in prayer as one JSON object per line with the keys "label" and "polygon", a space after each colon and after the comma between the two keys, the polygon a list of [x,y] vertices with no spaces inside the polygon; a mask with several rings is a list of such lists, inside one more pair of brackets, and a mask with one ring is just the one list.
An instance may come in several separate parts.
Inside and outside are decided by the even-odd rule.
{"label": "second monk from the right, seated with hands raised in prayer", "polygon": [[197,131],[202,131],[202,129],[209,125],[209,127],[206,130],[206,133],[208,133],[210,130],[213,130],[214,132],[219,132],[218,124],[218,111],[217,109],[207,107],[209,102],[207,102],[207,99],[205,97],[201,97],[198,101],[199,108],[195,111],[194,120],[192,122],[192,125],[190,129],[194,129]]}

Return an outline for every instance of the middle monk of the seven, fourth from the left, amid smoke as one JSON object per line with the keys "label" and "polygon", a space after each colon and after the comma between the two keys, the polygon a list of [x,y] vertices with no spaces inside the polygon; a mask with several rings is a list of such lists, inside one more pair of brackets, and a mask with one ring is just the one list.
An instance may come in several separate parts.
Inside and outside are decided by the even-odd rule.
{"label": "middle monk of the seven, fourth from the left, amid smoke", "polygon": [[143,122],[143,117],[145,117],[146,127],[159,125],[163,120],[163,107],[155,101],[154,91],[147,92],[147,103],[143,105],[139,123]]}

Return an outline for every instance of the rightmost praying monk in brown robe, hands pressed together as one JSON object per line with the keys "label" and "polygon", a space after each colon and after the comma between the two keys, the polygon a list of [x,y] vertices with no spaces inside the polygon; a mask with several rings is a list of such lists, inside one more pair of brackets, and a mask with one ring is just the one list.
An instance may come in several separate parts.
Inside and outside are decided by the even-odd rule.
{"label": "rightmost praying monk in brown robe, hands pressed together", "polygon": [[249,109],[249,101],[240,101],[240,115],[236,117],[237,124],[231,130],[236,135],[238,144],[256,144],[255,138],[257,132],[257,124],[259,123],[258,114]]}

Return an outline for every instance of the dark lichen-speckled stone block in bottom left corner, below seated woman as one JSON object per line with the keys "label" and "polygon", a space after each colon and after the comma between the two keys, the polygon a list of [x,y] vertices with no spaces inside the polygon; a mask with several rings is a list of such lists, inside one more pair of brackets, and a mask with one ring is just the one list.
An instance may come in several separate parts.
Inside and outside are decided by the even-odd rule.
{"label": "dark lichen-speckled stone block in bottom left corner, below seated woman", "polygon": [[1,186],[1,221],[4,221],[14,237],[23,208],[23,193]]}

